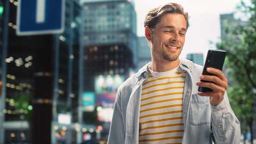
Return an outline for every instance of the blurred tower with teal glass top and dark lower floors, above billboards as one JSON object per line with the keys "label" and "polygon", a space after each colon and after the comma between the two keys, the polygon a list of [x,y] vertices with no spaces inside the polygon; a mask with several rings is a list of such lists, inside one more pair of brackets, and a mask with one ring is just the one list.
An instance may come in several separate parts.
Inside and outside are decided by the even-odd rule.
{"label": "blurred tower with teal glass top and dark lower floors, above billboards", "polygon": [[137,63],[134,1],[83,2],[85,79],[116,74],[128,78],[129,69],[134,69]]}

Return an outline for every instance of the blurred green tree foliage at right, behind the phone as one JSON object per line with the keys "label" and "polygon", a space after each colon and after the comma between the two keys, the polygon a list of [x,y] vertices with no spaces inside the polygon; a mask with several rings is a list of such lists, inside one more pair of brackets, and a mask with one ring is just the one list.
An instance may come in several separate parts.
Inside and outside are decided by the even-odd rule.
{"label": "blurred green tree foliage at right, behind the phone", "polygon": [[[246,21],[230,19],[223,23],[224,33],[218,49],[226,50],[227,74],[232,80],[227,90],[233,111],[237,115],[242,133],[252,125],[255,114],[256,94],[256,0],[250,5],[243,1],[238,7],[239,12],[248,19]],[[229,79],[230,80],[230,79]]]}

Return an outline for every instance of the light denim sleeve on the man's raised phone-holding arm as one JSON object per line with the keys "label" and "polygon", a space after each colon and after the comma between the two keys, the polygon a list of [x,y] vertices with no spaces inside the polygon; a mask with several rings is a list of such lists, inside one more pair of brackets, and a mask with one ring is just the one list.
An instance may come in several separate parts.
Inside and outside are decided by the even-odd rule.
{"label": "light denim sleeve on the man's raised phone-holding arm", "polygon": [[232,111],[227,94],[217,106],[211,105],[211,133],[215,144],[239,144],[240,123]]}

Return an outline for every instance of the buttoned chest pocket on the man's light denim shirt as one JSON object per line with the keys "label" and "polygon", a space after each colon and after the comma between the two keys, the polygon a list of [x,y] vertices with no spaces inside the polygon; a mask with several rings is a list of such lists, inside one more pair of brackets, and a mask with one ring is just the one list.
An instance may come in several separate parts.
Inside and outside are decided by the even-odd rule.
{"label": "buttoned chest pocket on the man's light denim shirt", "polygon": [[189,116],[192,125],[203,125],[211,122],[211,106],[208,96],[192,95],[189,106]]}

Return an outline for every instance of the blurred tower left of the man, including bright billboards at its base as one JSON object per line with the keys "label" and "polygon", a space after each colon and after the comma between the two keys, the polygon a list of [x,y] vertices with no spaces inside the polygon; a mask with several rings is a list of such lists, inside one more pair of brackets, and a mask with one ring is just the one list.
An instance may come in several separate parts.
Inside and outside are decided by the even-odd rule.
{"label": "blurred tower left of the man, including bright billboards at its base", "polygon": [[[134,0],[81,0],[81,4],[85,83],[79,114],[82,123],[102,126],[100,137],[108,138],[117,89],[138,64]],[[93,139],[86,136],[84,140]]]}

